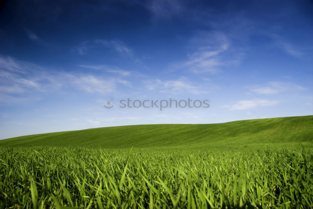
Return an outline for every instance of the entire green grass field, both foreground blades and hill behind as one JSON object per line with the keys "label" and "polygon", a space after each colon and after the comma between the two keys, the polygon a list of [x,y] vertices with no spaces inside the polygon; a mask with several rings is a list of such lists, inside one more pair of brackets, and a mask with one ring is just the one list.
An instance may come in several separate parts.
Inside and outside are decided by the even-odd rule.
{"label": "entire green grass field, both foreground blades and hill behind", "polygon": [[1,140],[0,208],[313,208],[312,140],[313,116]]}

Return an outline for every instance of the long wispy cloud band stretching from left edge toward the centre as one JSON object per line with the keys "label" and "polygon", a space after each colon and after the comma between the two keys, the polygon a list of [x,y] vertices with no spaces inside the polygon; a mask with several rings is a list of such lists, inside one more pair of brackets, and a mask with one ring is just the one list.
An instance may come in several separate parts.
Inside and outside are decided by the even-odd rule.
{"label": "long wispy cloud band stretching from left edge toward the centre", "polygon": [[[123,72],[121,72],[123,73]],[[124,72],[125,74],[126,72]],[[89,94],[108,94],[118,84],[131,87],[125,79],[88,72],[69,73],[45,68],[12,57],[0,56],[0,98],[2,103],[40,99],[46,94],[67,94],[76,89]]]}

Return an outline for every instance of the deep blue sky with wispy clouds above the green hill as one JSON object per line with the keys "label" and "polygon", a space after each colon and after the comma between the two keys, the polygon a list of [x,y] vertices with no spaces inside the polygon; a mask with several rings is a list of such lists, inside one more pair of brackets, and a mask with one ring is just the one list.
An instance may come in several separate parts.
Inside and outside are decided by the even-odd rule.
{"label": "deep blue sky with wispy clouds above the green hill", "polygon": [[[0,139],[313,114],[311,1],[8,1]],[[116,105],[105,109],[106,101]],[[118,108],[120,99],[209,108]]]}

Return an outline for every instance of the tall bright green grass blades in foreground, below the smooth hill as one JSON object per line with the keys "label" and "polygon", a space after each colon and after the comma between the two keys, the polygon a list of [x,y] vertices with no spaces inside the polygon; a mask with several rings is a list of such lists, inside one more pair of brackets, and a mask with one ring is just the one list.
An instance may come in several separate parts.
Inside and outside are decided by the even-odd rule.
{"label": "tall bright green grass blades in foreground, below the smooth hill", "polygon": [[312,208],[310,149],[0,147],[1,208]]}

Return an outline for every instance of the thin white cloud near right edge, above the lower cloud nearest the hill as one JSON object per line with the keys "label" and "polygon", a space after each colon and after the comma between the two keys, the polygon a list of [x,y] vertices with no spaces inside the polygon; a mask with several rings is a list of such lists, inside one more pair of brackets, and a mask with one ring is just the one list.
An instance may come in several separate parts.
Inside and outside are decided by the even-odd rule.
{"label": "thin white cloud near right edge, above the lower cloud nearest the hill", "polygon": [[287,82],[269,82],[266,86],[254,87],[250,89],[250,91],[256,92],[258,94],[278,94],[280,92],[300,90],[305,90],[305,88],[294,83]]}

